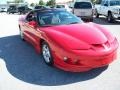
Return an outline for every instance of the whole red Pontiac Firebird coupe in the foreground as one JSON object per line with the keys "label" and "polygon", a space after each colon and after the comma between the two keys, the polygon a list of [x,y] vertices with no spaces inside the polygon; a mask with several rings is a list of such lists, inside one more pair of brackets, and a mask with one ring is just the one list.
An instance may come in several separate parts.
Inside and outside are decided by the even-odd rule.
{"label": "whole red Pontiac Firebird coupe in the foreground", "polygon": [[65,71],[88,71],[116,59],[118,41],[110,32],[67,11],[33,10],[19,19],[19,28],[46,64]]}

